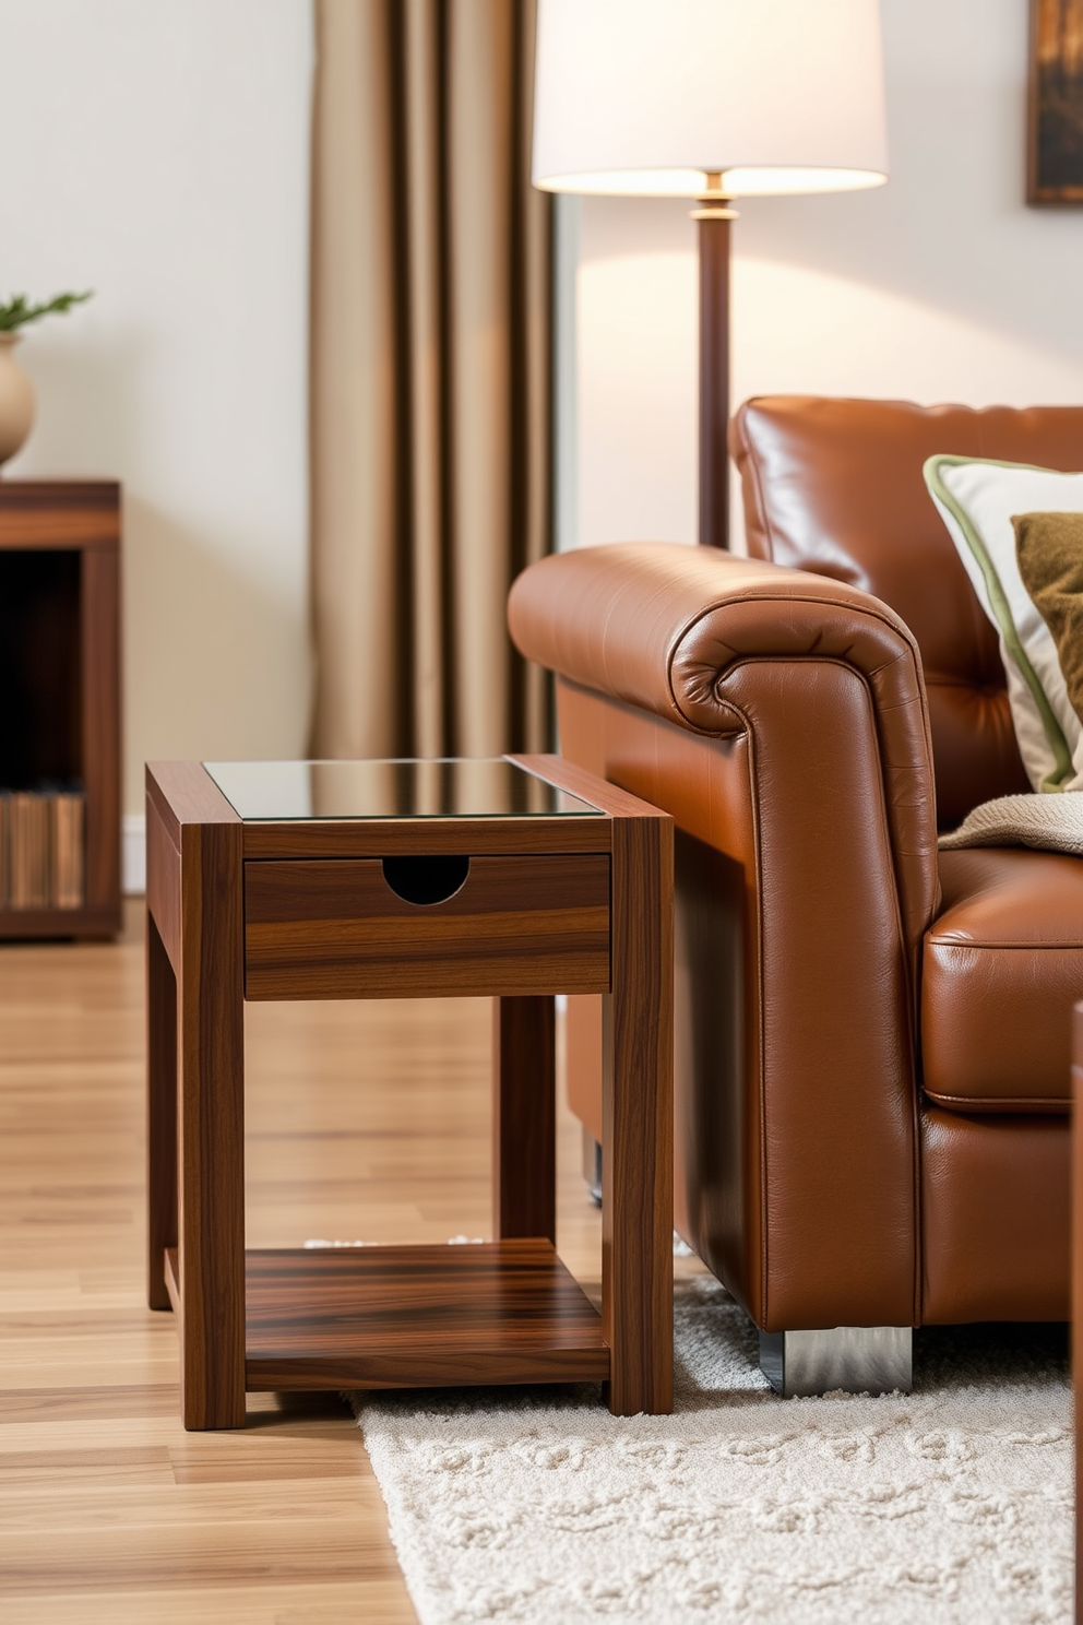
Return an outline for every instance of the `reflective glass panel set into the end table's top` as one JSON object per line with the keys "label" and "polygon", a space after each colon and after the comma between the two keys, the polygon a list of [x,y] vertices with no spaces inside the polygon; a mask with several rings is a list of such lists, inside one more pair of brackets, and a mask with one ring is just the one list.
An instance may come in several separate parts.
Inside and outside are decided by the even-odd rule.
{"label": "reflective glass panel set into the end table's top", "polygon": [[505,757],[385,762],[203,762],[245,821],[602,817]]}

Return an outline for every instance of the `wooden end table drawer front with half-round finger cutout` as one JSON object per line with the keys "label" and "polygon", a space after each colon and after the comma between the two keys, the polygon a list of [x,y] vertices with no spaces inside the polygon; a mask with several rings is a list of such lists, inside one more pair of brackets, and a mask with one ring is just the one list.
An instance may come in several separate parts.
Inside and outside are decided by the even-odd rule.
{"label": "wooden end table drawer front with half-round finger cutout", "polygon": [[455,861],[245,863],[245,998],[607,991],[609,853]]}

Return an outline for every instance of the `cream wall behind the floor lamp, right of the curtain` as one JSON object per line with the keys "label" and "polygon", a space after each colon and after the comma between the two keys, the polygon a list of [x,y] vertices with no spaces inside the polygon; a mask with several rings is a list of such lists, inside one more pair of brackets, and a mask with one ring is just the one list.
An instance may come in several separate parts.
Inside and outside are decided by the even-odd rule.
{"label": "cream wall behind the floor lamp, right of the curtain", "polygon": [[[734,401],[1083,401],[1083,208],[1023,205],[1026,11],[1026,0],[883,0],[891,179],[740,205]],[[578,234],[578,270],[563,281],[576,338],[562,395],[576,431],[560,541],[693,541],[687,205],[567,200],[562,226],[565,240]]]}

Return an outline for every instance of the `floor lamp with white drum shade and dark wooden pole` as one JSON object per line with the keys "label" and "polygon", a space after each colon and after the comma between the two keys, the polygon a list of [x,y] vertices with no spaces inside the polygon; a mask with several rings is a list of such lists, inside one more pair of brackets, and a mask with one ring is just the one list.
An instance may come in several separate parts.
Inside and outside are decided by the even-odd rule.
{"label": "floor lamp with white drum shade and dark wooden pole", "polygon": [[533,177],[698,200],[700,541],[724,548],[731,205],[887,180],[878,0],[539,0]]}

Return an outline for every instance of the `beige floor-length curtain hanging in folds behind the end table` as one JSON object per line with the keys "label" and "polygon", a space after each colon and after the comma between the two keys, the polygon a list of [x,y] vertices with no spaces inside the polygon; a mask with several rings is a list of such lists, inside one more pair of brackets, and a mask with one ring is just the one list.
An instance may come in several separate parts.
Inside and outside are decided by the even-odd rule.
{"label": "beige floor-length curtain hanging in folds behind the end table", "polygon": [[549,548],[534,0],[317,0],[318,756],[546,749],[505,600]]}

